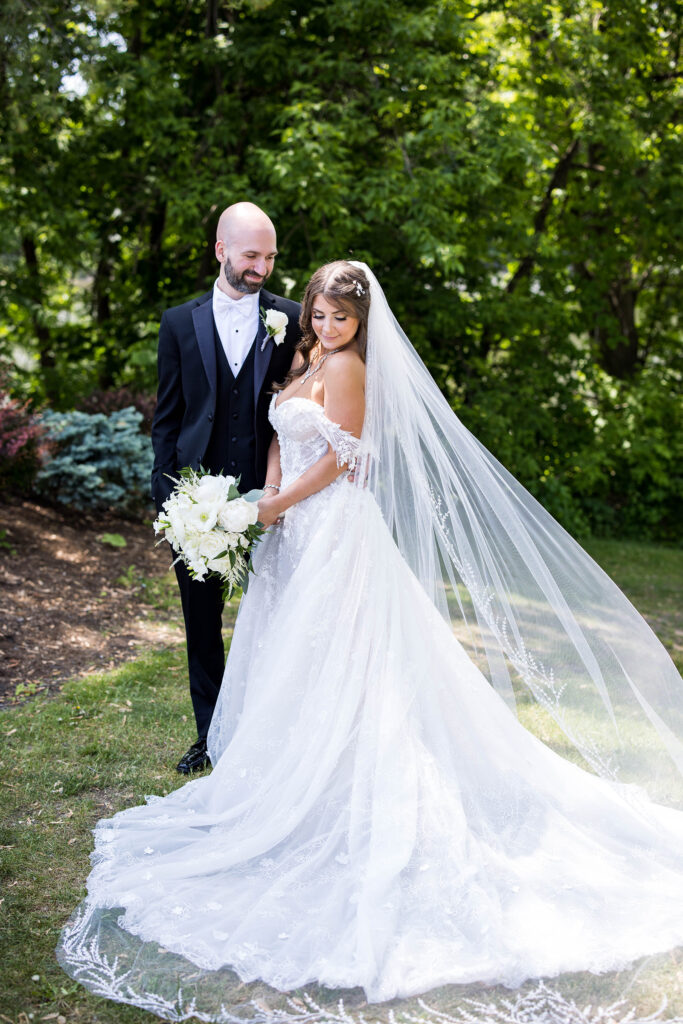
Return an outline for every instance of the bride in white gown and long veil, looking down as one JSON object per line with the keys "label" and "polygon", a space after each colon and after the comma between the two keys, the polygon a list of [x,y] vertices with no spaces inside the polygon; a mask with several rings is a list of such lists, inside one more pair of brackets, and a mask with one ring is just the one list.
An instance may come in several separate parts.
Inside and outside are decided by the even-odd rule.
{"label": "bride in white gown and long veil, looking down", "polygon": [[377,1002],[682,944],[666,651],[460,424],[369,267],[318,269],[301,325],[214,769],[98,822],[60,963],[227,1021],[256,979]]}

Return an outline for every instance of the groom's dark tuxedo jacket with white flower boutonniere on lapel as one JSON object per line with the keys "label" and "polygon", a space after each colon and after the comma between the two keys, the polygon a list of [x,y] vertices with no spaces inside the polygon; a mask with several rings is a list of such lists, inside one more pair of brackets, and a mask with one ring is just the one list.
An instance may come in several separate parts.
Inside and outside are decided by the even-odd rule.
{"label": "groom's dark tuxedo jacket with white flower boutonniere on lapel", "polygon": [[[152,497],[157,509],[171,494],[173,482],[165,474],[177,475],[183,466],[199,468],[207,450],[216,411],[216,347],[213,289],[199,299],[167,309],[159,328],[159,391],[152,424],[155,452]],[[301,337],[300,304],[261,289],[259,310],[279,309],[289,322],[285,340],[275,345],[266,338],[259,314],[254,351],[254,431],[256,478],[265,479],[272,427],[268,422],[269,391],[282,382],[292,365]]]}

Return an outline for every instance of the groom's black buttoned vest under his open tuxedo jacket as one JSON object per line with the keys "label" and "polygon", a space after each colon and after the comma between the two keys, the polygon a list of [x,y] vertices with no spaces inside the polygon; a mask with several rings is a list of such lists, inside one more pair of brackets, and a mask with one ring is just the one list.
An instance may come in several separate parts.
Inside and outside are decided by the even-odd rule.
{"label": "groom's black buttoned vest under his open tuxedo jacket", "polygon": [[214,324],[216,346],[216,412],[202,465],[211,473],[240,477],[240,490],[251,490],[256,480],[254,408],[254,345],[237,377],[232,376]]}

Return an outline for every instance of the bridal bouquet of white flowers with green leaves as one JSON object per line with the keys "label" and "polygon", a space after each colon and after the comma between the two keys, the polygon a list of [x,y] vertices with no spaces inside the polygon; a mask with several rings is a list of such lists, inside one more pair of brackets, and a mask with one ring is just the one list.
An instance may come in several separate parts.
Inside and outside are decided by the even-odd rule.
{"label": "bridal bouquet of white flowers with green leaves", "polygon": [[[172,495],[154,523],[194,580],[217,574],[229,598],[251,569],[249,554],[264,529],[258,523],[261,490],[241,495],[239,478],[181,469]],[[161,541],[160,541],[161,543]],[[175,562],[173,563],[175,565]]]}

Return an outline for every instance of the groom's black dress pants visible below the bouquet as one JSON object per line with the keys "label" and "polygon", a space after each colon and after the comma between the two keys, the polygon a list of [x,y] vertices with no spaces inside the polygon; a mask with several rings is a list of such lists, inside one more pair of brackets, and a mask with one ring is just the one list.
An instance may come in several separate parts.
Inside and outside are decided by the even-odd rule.
{"label": "groom's black dress pants visible below the bouquet", "polygon": [[221,583],[215,577],[203,583],[193,580],[182,562],[176,562],[174,567],[185,620],[189,695],[197,736],[206,739],[225,668]]}

